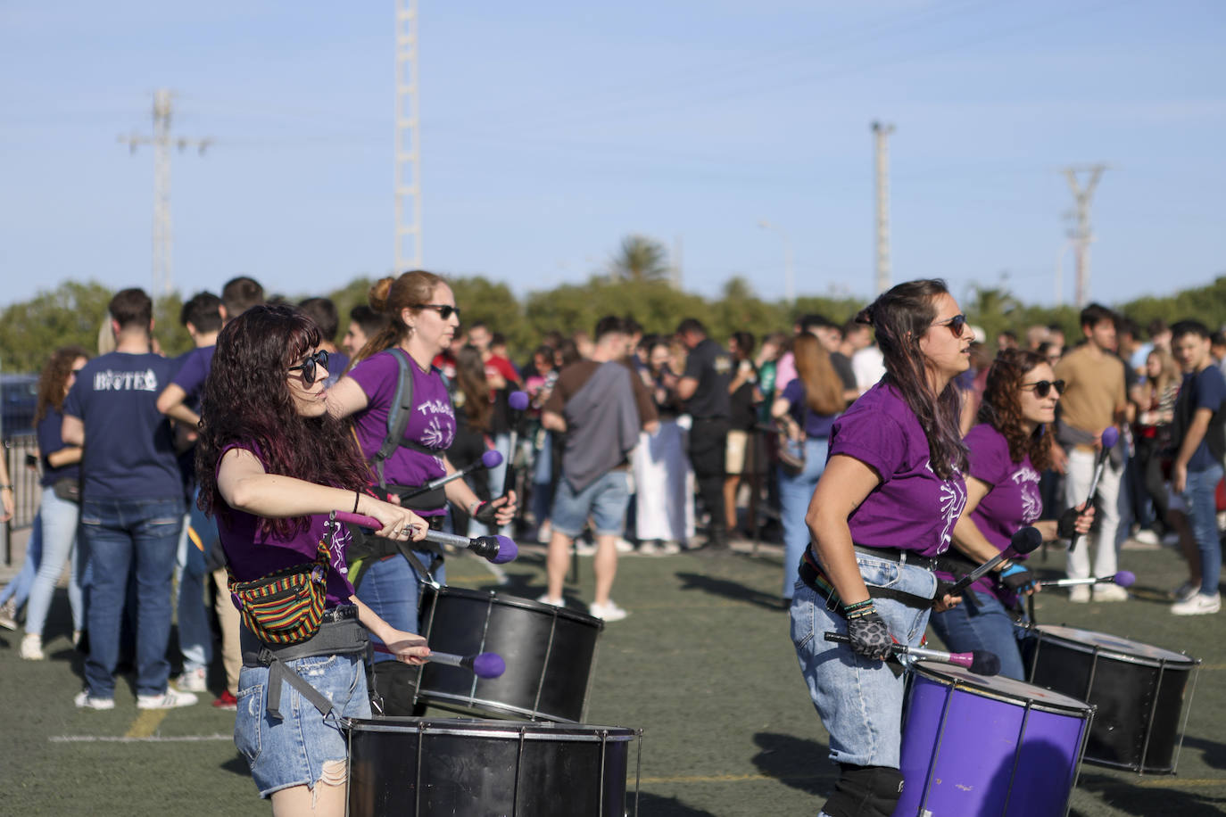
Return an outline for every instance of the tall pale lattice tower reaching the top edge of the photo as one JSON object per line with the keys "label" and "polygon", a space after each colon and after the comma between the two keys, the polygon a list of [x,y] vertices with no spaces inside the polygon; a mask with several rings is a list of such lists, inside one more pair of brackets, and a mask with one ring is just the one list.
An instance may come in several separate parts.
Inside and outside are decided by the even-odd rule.
{"label": "tall pale lattice tower reaching the top edge of the photo", "polygon": [[417,0],[396,0],[396,269],[422,266],[422,149],[417,108]]}

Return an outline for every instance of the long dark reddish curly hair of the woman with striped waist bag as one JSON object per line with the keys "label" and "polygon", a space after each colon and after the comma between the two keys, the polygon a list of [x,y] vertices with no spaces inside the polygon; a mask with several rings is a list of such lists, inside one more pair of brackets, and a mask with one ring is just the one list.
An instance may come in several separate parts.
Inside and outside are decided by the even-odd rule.
{"label": "long dark reddish curly hair of the woman with striped waist bag", "polygon": [[[369,470],[353,439],[329,413],[298,414],[289,393],[289,366],[319,345],[315,322],[284,305],[253,306],[217,336],[212,370],[205,381],[196,442],[199,505],[229,518],[217,490],[217,464],[226,446],[254,446],[270,474],[357,490]],[[288,539],[310,527],[306,516],[260,522],[260,529]]]}

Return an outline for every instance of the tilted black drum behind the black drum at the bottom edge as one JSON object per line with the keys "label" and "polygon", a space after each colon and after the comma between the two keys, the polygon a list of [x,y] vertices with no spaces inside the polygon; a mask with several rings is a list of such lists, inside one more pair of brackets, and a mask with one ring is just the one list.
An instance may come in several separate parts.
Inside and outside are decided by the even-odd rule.
{"label": "tilted black drum behind the black drum at the bottom edge", "polygon": [[417,699],[466,714],[582,723],[603,627],[593,616],[514,595],[423,587],[422,636],[430,649],[498,653],[506,671],[479,679],[456,666],[425,664]]}

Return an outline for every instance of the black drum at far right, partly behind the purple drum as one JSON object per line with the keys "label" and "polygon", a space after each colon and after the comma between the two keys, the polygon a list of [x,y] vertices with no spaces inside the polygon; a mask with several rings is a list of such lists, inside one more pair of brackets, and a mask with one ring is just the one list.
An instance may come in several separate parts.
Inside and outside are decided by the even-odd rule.
{"label": "black drum at far right, partly behind the purple drum", "polygon": [[1030,682],[1097,707],[1086,763],[1175,773],[1199,660],[1074,627],[1041,625],[1031,633],[1022,657]]}

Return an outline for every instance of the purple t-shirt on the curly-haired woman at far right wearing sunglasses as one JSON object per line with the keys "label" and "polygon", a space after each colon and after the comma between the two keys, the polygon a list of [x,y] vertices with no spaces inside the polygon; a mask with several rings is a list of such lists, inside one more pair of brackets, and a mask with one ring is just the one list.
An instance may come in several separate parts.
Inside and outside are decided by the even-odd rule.
{"label": "purple t-shirt on the curly-haired woman at far right wearing sunglasses", "polygon": [[[987,483],[988,494],[971,512],[971,521],[997,550],[1009,546],[1013,534],[1031,524],[1043,513],[1043,497],[1038,491],[1038,472],[1024,456],[1020,463],[1009,458],[1009,441],[988,424],[977,425],[966,435],[970,448],[971,476]],[[1010,561],[1021,561],[1018,556]],[[1011,601],[1014,594],[996,581],[991,573],[975,582],[976,590],[991,593],[1002,601]]]}

